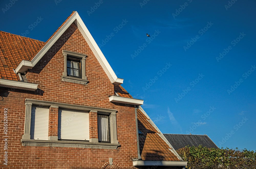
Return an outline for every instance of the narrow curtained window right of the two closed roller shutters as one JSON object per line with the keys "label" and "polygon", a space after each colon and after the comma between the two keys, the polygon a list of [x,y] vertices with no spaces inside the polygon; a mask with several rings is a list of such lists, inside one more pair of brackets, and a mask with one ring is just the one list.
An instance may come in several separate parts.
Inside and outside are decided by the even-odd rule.
{"label": "narrow curtained window right of the two closed roller shutters", "polygon": [[98,139],[104,142],[109,141],[109,122],[106,115],[98,115]]}

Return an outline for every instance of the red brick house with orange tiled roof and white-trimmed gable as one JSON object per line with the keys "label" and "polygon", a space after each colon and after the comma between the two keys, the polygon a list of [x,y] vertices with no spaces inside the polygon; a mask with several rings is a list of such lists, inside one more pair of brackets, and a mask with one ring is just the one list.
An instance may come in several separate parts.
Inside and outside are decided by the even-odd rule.
{"label": "red brick house with orange tiled roof and white-trimmed gable", "polygon": [[44,43],[0,31],[3,168],[183,168],[76,11]]}

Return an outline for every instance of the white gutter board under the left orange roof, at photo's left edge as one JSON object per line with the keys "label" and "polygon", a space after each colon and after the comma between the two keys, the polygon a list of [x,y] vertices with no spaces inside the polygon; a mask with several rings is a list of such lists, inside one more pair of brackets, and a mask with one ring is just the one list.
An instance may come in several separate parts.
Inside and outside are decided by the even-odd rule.
{"label": "white gutter board under the left orange roof, at photo's left edge", "polygon": [[37,89],[37,85],[38,84],[35,84],[35,83],[27,83],[27,82],[22,82],[22,81],[0,79],[0,86],[6,87],[6,88],[35,91]]}

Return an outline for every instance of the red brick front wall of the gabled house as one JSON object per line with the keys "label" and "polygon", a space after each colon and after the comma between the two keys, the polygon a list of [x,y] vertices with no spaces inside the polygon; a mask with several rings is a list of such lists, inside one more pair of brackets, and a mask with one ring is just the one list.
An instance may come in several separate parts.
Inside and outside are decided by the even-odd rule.
{"label": "red brick front wall of the gabled house", "polygon": [[[86,76],[90,81],[88,85],[61,81],[64,71],[63,50],[87,54]],[[38,84],[38,90],[30,92],[0,89],[1,96],[4,96],[4,100],[0,101],[0,167],[8,169],[101,168],[109,162],[111,157],[120,168],[135,168],[132,166],[132,159],[137,158],[134,107],[109,102],[109,96],[114,94],[113,84],[75,24],[69,27],[26,76],[28,82]],[[5,97],[7,94],[8,96]],[[121,146],[117,149],[22,146],[26,98],[117,109],[117,134]],[[8,108],[8,150],[4,150],[4,108]],[[49,128],[49,136],[56,136],[58,122],[56,114],[58,114],[57,108],[50,108],[49,124],[53,127]],[[93,120],[95,124],[95,119]],[[95,127],[93,126],[94,129]],[[91,128],[91,133],[94,134],[90,138],[97,137],[95,132]],[[3,165],[4,151],[8,151],[7,166]]]}

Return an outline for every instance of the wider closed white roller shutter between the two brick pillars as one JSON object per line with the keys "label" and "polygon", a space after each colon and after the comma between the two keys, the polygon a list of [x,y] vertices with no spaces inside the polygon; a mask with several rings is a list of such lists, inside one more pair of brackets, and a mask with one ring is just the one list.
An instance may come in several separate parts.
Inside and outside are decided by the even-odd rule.
{"label": "wider closed white roller shutter between the two brick pillars", "polygon": [[58,139],[89,140],[89,113],[59,109]]}

